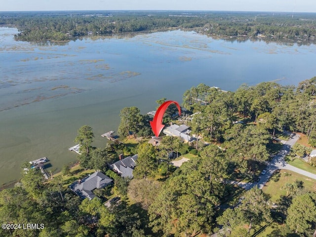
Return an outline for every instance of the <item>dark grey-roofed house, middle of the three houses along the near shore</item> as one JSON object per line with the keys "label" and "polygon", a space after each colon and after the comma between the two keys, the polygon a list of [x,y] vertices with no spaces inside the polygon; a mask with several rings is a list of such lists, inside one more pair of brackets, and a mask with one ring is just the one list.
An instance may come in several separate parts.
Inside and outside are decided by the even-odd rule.
{"label": "dark grey-roofed house, middle of the three houses along the near shore", "polygon": [[121,156],[119,158],[117,162],[111,164],[112,169],[120,174],[121,177],[133,178],[133,170],[136,166],[138,154],[123,159]]}

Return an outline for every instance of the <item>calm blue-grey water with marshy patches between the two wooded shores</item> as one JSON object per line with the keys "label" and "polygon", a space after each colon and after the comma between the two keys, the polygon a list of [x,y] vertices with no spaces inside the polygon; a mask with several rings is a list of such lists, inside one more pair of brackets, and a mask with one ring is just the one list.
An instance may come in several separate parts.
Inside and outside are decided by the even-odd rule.
{"label": "calm blue-grey water with marshy patches between the two wooded shores", "polygon": [[20,177],[25,161],[47,157],[60,169],[88,124],[95,145],[117,130],[119,111],[154,110],[166,97],[181,102],[193,85],[225,90],[278,80],[297,84],[316,76],[316,46],[230,42],[172,31],[132,38],[81,39],[63,45],[17,42],[0,28],[0,185]]}

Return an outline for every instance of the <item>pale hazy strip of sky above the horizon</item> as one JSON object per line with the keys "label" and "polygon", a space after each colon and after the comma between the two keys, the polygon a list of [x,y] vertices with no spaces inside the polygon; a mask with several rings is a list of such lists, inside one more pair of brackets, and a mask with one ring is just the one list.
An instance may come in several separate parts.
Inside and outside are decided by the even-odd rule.
{"label": "pale hazy strip of sky above the horizon", "polygon": [[315,0],[0,0],[0,11],[227,10],[316,12]]}

